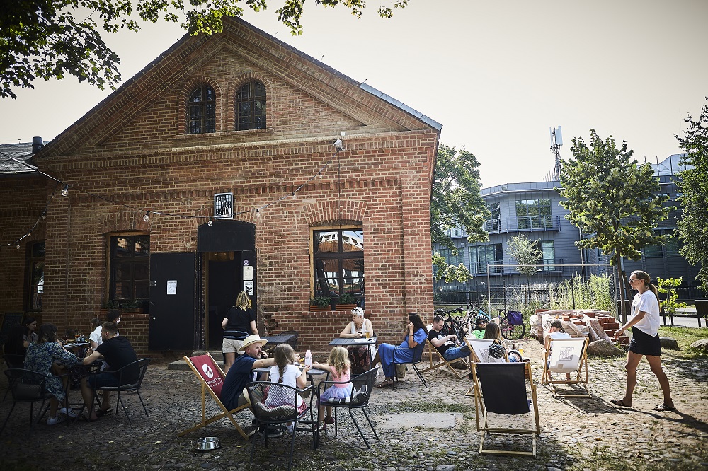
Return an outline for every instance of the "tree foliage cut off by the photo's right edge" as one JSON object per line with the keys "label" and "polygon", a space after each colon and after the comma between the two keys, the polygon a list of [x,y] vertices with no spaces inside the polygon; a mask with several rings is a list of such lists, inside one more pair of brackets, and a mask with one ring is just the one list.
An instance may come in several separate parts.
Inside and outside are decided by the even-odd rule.
{"label": "tree foliage cut off by the photo's right edge", "polygon": [[701,264],[696,279],[708,291],[708,105],[703,105],[698,120],[688,115],[684,121],[688,129],[676,139],[687,153],[681,163],[693,168],[678,173],[683,218],[676,233],[683,240],[681,255],[691,264]]}

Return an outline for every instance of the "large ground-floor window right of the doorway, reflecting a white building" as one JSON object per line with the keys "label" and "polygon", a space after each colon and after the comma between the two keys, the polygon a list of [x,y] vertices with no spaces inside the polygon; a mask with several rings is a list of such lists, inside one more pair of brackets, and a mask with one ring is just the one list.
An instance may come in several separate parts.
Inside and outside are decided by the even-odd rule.
{"label": "large ground-floor window right of the doorway, reflecting a white building", "polygon": [[312,231],[314,296],[351,293],[364,307],[364,231],[332,228]]}

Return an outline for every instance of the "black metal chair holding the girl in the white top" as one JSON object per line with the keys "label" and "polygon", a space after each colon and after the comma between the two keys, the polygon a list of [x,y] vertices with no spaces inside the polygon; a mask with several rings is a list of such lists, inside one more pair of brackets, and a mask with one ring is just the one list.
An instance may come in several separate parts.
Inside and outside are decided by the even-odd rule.
{"label": "black metal chair holding the girl in the white top", "polygon": [[[312,412],[312,401],[315,396],[314,386],[298,389],[281,383],[270,383],[268,381],[253,381],[246,385],[251,402],[253,417],[256,418],[259,437],[265,437],[265,447],[268,448],[268,426],[282,426],[292,422],[293,432],[290,439],[290,455],[287,459],[287,469],[292,465],[292,450],[295,448],[295,431],[312,432],[312,447],[317,448],[319,444],[319,429],[317,421]],[[300,411],[292,404],[297,404],[297,396],[309,392],[309,407]],[[305,417],[309,414],[309,419]],[[302,425],[302,426],[298,426]],[[251,444],[251,465],[253,465],[253,454],[256,451],[256,437]],[[261,441],[258,439],[258,441]]]}

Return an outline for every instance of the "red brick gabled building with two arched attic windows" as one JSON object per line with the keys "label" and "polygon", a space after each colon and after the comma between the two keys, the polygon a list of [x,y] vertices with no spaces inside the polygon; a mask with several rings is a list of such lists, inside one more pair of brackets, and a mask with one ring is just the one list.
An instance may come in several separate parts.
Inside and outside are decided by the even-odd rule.
{"label": "red brick gabled building with two arched attic windows", "polygon": [[312,313],[309,299],[346,291],[379,339],[398,342],[404,314],[433,306],[440,128],[225,19],[224,33],[183,37],[35,153],[61,183],[4,175],[2,309],[87,332],[120,305],[137,349],[188,351],[219,348],[223,313],[253,286],[261,332],[297,330],[300,348],[325,351],[350,313]]}

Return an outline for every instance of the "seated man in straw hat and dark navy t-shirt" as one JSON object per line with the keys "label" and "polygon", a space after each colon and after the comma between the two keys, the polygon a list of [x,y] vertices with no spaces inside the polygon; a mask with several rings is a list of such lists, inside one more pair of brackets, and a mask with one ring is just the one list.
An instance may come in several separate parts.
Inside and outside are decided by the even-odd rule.
{"label": "seated man in straw hat and dark navy t-shirt", "polygon": [[229,368],[229,373],[224,379],[221,400],[227,409],[236,409],[249,402],[248,393],[244,395],[246,384],[256,381],[258,373],[256,368],[270,368],[275,364],[275,359],[268,358],[268,354],[262,350],[263,345],[268,340],[261,339],[259,335],[249,335],[244,339],[244,344],[239,348],[234,364]]}

